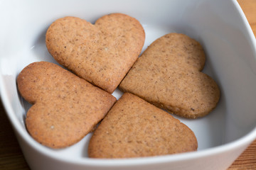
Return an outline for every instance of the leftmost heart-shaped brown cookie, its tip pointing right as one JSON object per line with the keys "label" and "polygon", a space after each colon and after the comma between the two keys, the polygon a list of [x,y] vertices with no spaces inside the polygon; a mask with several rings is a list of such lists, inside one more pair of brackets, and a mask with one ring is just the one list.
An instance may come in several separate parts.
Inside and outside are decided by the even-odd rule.
{"label": "leftmost heart-shaped brown cookie, its tip pointing right", "polygon": [[116,98],[50,62],[33,62],[17,78],[18,90],[33,106],[26,128],[42,145],[63,148],[85,137]]}

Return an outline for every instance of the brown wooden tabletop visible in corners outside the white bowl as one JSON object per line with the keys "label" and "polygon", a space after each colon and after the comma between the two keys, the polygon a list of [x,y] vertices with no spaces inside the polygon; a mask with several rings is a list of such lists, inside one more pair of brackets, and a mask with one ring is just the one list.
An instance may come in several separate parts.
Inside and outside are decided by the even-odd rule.
{"label": "brown wooden tabletop visible in corners outside the white bowl", "polygon": [[[256,35],[256,0],[238,0]],[[20,147],[0,101],[0,169],[28,170]],[[256,140],[243,152],[228,170],[256,169]]]}

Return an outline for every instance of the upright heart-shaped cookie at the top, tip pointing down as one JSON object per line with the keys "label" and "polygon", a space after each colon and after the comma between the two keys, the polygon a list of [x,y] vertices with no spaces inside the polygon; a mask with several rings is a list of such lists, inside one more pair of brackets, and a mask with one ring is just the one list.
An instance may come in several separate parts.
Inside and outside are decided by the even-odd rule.
{"label": "upright heart-shaped cookie at the top, tip pointing down", "polygon": [[46,33],[46,47],[57,62],[110,93],[137,60],[144,40],[139,21],[122,13],[102,16],[95,24],[59,18]]}

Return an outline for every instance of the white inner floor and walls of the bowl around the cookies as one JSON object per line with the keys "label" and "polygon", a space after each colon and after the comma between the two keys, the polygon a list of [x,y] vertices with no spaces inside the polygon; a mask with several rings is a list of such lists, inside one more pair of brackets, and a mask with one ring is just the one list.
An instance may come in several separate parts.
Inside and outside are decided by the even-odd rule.
{"label": "white inner floor and walls of the bowl around the cookies", "polygon": [[[143,50],[156,38],[171,32],[185,33],[203,45],[206,51],[203,72],[220,86],[220,102],[204,118],[187,120],[174,115],[195,132],[198,150],[238,140],[255,128],[255,47],[232,2],[219,0],[1,2],[1,95],[4,105],[10,108],[11,120],[16,120],[14,126],[26,132],[24,119],[31,106],[16,89],[18,73],[31,62],[58,64],[45,45],[50,23],[63,16],[77,16],[94,23],[100,16],[117,12],[142,23],[146,33]],[[116,90],[113,95],[119,98],[122,93]],[[91,135],[72,147],[50,152],[65,157],[87,157]]]}

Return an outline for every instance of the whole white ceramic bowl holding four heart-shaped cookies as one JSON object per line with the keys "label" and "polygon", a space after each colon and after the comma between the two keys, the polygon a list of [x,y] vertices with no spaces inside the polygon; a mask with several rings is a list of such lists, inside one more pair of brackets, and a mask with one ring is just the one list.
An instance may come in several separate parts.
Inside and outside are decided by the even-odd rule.
{"label": "whole white ceramic bowl holding four heart-shaped cookies", "polygon": [[[108,13],[137,18],[146,31],[144,49],[166,33],[185,33],[206,50],[203,72],[218,82],[221,98],[204,118],[180,119],[195,132],[198,151],[136,159],[90,159],[91,134],[66,149],[50,149],[28,135],[30,105],[16,89],[16,77],[31,62],[55,62],[46,49],[50,23],[63,16],[94,22]],[[256,138],[255,37],[235,0],[1,1],[1,99],[31,169],[227,169]],[[119,98],[121,92],[114,91]]]}

